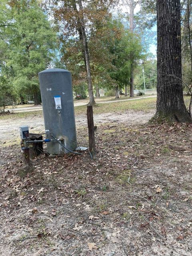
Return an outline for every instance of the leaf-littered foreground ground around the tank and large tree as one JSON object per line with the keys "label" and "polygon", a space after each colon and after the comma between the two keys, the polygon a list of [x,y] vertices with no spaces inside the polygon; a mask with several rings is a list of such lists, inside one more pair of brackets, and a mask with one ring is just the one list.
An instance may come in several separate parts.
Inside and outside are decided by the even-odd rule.
{"label": "leaf-littered foreground ground around the tank and large tree", "polygon": [[18,145],[0,147],[0,256],[192,256],[192,125],[96,118],[95,161],[41,155],[25,176]]}

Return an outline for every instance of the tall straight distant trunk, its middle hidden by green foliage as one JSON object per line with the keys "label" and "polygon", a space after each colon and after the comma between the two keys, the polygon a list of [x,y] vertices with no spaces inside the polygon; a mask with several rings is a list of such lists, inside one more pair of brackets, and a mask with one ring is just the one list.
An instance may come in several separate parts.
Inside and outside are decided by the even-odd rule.
{"label": "tall straight distant trunk, its middle hidden by green foliage", "polygon": [[[134,0],[130,0],[130,31],[134,32]],[[133,63],[131,65],[131,72],[130,72],[130,97],[134,97],[134,66]]]}

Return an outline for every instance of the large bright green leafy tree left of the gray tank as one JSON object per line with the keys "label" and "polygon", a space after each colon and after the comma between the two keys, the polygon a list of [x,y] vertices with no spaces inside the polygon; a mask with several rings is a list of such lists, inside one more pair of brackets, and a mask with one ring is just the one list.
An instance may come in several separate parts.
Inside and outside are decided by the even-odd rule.
{"label": "large bright green leafy tree left of the gray tank", "polygon": [[55,56],[56,33],[48,17],[36,0],[4,1],[9,16],[4,23],[6,59],[4,64],[12,68],[12,84],[18,95],[34,94],[39,103],[38,72],[51,65]]}

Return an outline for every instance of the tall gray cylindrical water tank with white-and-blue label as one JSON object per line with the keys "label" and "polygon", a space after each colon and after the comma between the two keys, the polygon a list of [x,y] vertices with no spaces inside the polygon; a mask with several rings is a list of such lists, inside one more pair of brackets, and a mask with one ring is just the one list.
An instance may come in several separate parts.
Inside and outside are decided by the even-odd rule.
{"label": "tall gray cylindrical water tank with white-and-blue label", "polygon": [[[71,73],[51,68],[39,73],[45,130],[69,150],[77,147]],[[58,142],[47,142],[49,154],[69,153]]]}

